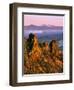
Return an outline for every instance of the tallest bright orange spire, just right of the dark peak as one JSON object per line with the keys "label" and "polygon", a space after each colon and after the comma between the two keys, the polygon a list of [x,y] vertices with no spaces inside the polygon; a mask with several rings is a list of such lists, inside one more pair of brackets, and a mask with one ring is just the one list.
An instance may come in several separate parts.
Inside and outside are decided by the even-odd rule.
{"label": "tallest bright orange spire, just right of the dark peak", "polygon": [[32,60],[39,60],[40,56],[41,56],[41,48],[39,47],[39,44],[38,44],[38,38],[35,34],[32,35],[33,37],[29,37],[29,39],[31,39],[31,42],[32,43],[31,45],[31,50],[29,52],[29,56],[30,58],[32,58]]}

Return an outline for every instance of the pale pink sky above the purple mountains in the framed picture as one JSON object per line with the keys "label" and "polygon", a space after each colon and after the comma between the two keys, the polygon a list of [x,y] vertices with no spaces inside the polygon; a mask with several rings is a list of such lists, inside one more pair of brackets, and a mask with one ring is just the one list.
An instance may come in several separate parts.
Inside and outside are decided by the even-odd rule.
{"label": "pale pink sky above the purple mountains in the framed picture", "polygon": [[24,26],[27,25],[54,25],[63,26],[64,16],[24,15]]}

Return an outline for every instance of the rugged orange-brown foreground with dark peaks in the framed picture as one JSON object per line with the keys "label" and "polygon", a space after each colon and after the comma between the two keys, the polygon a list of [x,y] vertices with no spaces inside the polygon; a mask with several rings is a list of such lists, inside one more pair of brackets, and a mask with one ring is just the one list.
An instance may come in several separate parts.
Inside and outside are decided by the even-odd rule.
{"label": "rugged orange-brown foreground with dark peaks in the framed picture", "polygon": [[62,73],[63,54],[58,42],[38,42],[34,34],[30,34],[24,44],[24,74]]}

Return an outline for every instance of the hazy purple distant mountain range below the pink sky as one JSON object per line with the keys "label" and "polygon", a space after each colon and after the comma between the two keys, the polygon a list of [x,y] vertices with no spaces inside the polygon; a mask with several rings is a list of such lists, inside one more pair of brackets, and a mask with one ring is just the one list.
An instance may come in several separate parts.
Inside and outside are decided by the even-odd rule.
{"label": "hazy purple distant mountain range below the pink sky", "polygon": [[56,30],[63,30],[63,26],[53,26],[53,25],[41,25],[41,26],[37,26],[37,25],[28,25],[28,26],[24,26],[24,30],[48,30],[48,29],[56,29]]}

